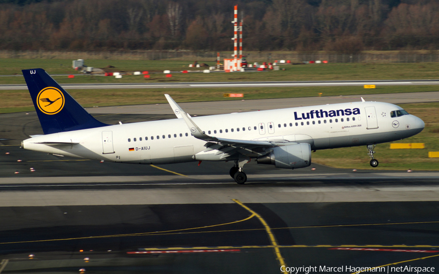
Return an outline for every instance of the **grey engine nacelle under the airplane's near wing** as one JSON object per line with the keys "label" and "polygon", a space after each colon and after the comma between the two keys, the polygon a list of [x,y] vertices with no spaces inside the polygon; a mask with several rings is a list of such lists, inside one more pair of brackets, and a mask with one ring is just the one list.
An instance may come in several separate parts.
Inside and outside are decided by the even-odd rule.
{"label": "grey engine nacelle under the airplane's near wing", "polygon": [[257,158],[258,164],[274,164],[279,168],[300,168],[311,164],[311,145],[307,143],[277,146]]}

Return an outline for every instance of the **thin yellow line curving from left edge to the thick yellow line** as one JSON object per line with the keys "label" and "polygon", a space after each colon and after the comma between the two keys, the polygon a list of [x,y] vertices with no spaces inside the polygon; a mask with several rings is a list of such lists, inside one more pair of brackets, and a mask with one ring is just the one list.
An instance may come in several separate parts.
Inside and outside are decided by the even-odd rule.
{"label": "thin yellow line curving from left edge to the thick yellow line", "polygon": [[[249,217],[247,217],[245,219],[236,220],[236,221],[232,221],[232,222],[213,224],[213,225],[207,225],[207,226],[200,226],[200,227],[191,227],[191,228],[167,230],[167,231],[153,231],[153,232],[141,232],[141,233],[132,233],[132,234],[115,234],[115,235],[101,235],[101,236],[88,236],[88,237],[73,237],[73,238],[61,238],[61,239],[43,239],[43,240],[16,241],[16,242],[0,242],[0,244],[50,242],[50,241],[67,241],[67,240],[78,240],[78,239],[95,239],[95,238],[112,238],[112,237],[135,237],[135,236],[148,236],[148,235],[170,235],[170,234],[172,234],[170,232],[174,233],[174,232],[178,232],[178,231],[196,230],[196,229],[211,228],[211,227],[217,227],[217,226],[222,226],[222,225],[239,223],[239,222],[242,222],[242,221],[246,221],[246,220],[252,219],[255,216],[256,216],[255,214],[252,214],[252,215],[250,215]],[[180,233],[176,233],[176,234],[180,234]]]}

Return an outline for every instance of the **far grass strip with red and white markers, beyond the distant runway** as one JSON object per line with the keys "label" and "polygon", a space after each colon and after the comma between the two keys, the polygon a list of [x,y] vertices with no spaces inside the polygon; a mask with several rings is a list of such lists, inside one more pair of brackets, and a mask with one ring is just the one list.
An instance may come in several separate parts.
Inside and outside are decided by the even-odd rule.
{"label": "far grass strip with red and white markers, beyond the distant runway", "polygon": [[[81,75],[73,70],[72,60],[60,59],[0,59],[0,75],[21,75],[22,69],[42,68],[49,74],[76,74],[74,79],[66,76],[56,77],[60,84],[66,83],[127,83],[127,82],[224,82],[224,81],[317,81],[317,80],[393,80],[393,79],[439,79],[439,63],[409,64],[309,64],[283,65],[285,70],[263,73],[174,73],[166,78],[164,70],[199,70],[188,68],[189,61],[121,61],[89,60],[88,66],[105,68],[109,72],[149,71],[151,78],[145,80],[142,75],[124,75],[121,79]],[[215,66],[213,61],[199,61]],[[81,76],[79,76],[81,75]],[[0,77],[0,84],[23,84],[22,77]]]}

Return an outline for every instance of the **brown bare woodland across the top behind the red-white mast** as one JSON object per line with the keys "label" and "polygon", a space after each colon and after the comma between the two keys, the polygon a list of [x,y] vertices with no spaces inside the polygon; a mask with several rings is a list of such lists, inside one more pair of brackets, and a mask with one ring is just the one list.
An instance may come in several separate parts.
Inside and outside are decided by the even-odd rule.
{"label": "brown bare woodland across the top behind the red-white mast", "polygon": [[437,0],[0,0],[3,50],[437,50]]}

